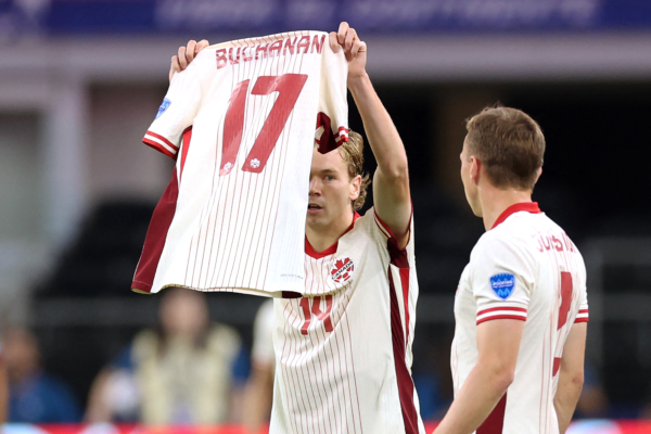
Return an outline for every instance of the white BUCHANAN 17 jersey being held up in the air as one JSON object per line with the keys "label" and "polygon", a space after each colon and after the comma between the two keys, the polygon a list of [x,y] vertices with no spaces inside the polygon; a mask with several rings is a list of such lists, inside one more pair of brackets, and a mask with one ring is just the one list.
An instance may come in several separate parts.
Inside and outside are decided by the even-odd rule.
{"label": "white BUCHANAN 17 jersey being held up in the air", "polygon": [[143,142],[177,164],[131,288],[302,293],[312,149],[348,140],[346,77],[322,31],[212,46],[175,75]]}

